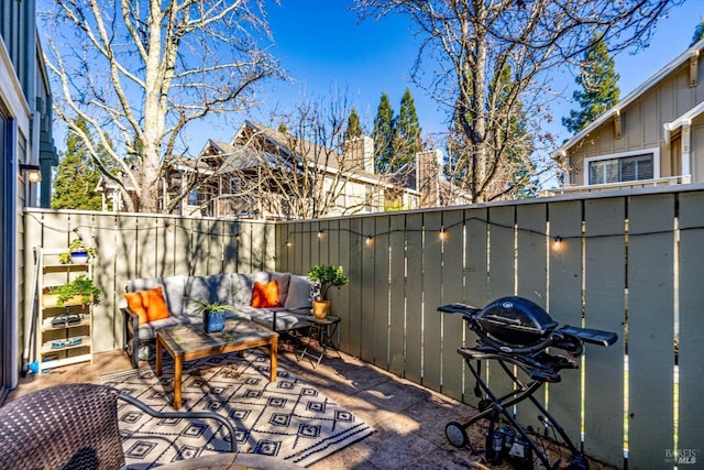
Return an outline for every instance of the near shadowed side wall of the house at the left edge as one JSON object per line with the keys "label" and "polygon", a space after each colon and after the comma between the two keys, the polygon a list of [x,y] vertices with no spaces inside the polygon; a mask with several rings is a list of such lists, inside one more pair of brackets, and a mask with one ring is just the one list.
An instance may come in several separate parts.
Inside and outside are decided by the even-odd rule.
{"label": "near shadowed side wall of the house at the left edge", "polygon": [[21,208],[26,204],[25,195],[35,195],[36,189],[30,189],[19,174],[19,164],[32,162],[30,103],[34,100],[38,61],[34,1],[0,2],[0,112],[4,116],[3,147],[0,149],[3,194],[0,198],[0,340],[3,345],[0,398],[8,387],[16,384],[24,339],[24,324],[18,318],[24,308],[22,297],[18,296],[20,280],[24,278],[24,259],[18,256],[23,249],[18,231],[22,231]]}

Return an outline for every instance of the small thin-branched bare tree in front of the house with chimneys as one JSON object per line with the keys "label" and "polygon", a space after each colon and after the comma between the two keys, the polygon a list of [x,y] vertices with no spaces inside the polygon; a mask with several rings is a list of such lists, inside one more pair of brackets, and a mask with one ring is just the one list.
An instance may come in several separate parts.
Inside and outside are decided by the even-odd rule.
{"label": "small thin-branched bare tree in front of the house with chimneys", "polygon": [[[334,94],[323,100],[307,99],[274,118],[278,131],[257,127],[248,136],[246,145],[263,162],[254,183],[260,204],[278,208],[289,218],[353,214],[370,205],[381,206],[382,178],[374,174],[372,147],[365,154],[364,138],[349,139],[350,112],[348,100]],[[241,186],[251,189],[252,183]]]}

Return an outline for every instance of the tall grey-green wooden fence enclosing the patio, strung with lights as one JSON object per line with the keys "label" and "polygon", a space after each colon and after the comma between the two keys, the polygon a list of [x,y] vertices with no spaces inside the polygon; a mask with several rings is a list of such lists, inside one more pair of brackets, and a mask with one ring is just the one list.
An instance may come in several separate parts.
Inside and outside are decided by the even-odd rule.
{"label": "tall grey-green wooden fence enclosing the patio, strung with lights", "polygon": [[[131,277],[305,274],[330,263],[351,280],[329,293],[343,351],[475,404],[457,353],[472,335],[437,307],[520,295],[561,325],[619,336],[610,348],[587,346],[580,370],[540,395],[588,455],[620,467],[627,449],[629,468],[652,468],[678,448],[702,449],[704,187],[277,223],[25,212],[26,247],[61,248],[73,229],[100,252],[102,350],[121,346],[117,306]],[[492,389],[507,385],[494,364],[484,373]],[[516,412],[540,428],[535,409]]]}

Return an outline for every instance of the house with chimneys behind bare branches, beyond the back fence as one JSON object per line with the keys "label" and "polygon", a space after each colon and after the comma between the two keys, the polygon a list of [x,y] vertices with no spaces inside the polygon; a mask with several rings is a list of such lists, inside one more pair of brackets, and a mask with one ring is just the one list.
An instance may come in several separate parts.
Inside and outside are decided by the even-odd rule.
{"label": "house with chimneys behind bare branches, beyond the back fence", "polygon": [[277,220],[437,207],[451,200],[444,197],[453,188],[441,177],[439,152],[419,153],[419,164],[392,175],[374,174],[373,155],[370,138],[354,139],[339,152],[248,121],[230,142],[208,141],[197,159],[172,164],[167,204],[184,215]]}

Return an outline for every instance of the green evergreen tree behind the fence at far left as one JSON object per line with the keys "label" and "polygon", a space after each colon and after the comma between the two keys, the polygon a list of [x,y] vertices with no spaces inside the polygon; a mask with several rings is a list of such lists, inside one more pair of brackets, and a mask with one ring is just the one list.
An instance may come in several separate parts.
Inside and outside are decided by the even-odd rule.
{"label": "green evergreen tree behind the fence at far left", "polygon": [[[76,118],[75,123],[87,132],[85,120]],[[100,210],[102,198],[96,192],[99,179],[100,171],[92,164],[84,141],[69,132],[54,178],[52,209]]]}

